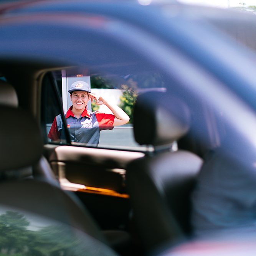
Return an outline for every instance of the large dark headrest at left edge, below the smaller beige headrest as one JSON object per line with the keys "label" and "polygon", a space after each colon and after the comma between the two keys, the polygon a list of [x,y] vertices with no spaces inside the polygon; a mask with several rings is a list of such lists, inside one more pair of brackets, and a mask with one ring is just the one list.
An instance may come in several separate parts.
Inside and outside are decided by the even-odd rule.
{"label": "large dark headrest at left edge, below the smaller beige headrest", "polygon": [[35,164],[43,152],[40,129],[20,108],[0,105],[0,171]]}

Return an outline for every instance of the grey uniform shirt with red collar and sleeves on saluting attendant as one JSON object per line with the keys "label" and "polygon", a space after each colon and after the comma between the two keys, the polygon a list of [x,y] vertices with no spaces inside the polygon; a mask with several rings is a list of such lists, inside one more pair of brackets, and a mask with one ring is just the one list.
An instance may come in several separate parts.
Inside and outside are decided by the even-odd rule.
{"label": "grey uniform shirt with red collar and sleeves on saluting attendant", "polygon": [[[115,116],[113,114],[105,114],[98,111],[91,112],[84,109],[81,117],[76,118],[71,111],[72,108],[73,106],[69,108],[65,117],[71,141],[73,142],[98,145],[99,132],[114,128],[113,122]],[[66,139],[61,115],[55,117],[48,137],[51,140]]]}

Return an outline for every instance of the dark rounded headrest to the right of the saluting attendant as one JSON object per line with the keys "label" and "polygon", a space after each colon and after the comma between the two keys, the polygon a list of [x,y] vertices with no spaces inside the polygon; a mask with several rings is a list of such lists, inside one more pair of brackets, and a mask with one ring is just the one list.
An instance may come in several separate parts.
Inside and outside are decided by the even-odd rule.
{"label": "dark rounded headrest to the right of the saluting attendant", "polygon": [[167,145],[190,127],[187,105],[167,92],[140,94],[134,105],[134,137],[140,145]]}

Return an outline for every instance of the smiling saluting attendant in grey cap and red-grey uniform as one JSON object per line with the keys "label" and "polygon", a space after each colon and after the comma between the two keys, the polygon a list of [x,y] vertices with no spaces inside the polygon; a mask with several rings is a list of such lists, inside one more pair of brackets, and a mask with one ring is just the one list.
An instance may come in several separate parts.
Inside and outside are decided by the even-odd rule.
{"label": "smiling saluting attendant in grey cap and red-grey uniform", "polygon": [[[72,142],[97,146],[101,130],[112,130],[114,126],[129,122],[129,116],[120,107],[106,101],[102,96],[92,94],[89,84],[84,81],[71,84],[68,92],[72,106],[69,107],[65,118]],[[90,99],[93,99],[97,105],[104,104],[113,114],[89,111],[87,104]],[[64,123],[61,115],[58,115],[53,121],[48,137],[53,141],[59,141],[65,136]]]}

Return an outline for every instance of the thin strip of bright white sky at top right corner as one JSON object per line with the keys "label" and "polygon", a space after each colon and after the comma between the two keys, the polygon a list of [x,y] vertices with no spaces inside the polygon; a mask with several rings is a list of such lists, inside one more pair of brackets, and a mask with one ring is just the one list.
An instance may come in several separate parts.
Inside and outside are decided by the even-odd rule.
{"label": "thin strip of bright white sky at top right corner", "polygon": [[241,7],[239,3],[245,3],[245,6],[256,5],[256,0],[178,0],[182,3],[208,5],[213,7],[228,8],[228,7]]}

